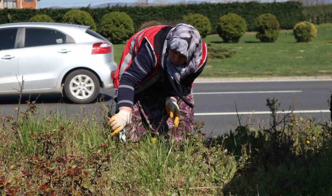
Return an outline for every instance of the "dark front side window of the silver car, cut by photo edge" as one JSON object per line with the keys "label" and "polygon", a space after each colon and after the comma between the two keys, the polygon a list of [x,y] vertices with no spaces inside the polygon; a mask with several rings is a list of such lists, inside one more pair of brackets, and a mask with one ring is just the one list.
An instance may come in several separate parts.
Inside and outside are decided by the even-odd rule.
{"label": "dark front side window of the silver car, cut by photo edge", "polygon": [[0,50],[15,48],[17,28],[0,29]]}

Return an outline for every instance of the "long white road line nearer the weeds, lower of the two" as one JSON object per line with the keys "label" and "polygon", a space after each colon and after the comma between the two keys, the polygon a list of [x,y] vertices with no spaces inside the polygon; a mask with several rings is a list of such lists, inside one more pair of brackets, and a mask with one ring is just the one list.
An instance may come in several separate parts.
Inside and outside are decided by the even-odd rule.
{"label": "long white road line nearer the weeds, lower of the two", "polygon": [[[330,110],[294,110],[293,113],[326,113]],[[287,114],[288,111],[279,111],[278,113]],[[271,111],[251,111],[238,112],[238,114],[271,114]],[[236,115],[236,112],[210,112],[210,113],[195,113],[195,116],[214,116],[214,115]]]}

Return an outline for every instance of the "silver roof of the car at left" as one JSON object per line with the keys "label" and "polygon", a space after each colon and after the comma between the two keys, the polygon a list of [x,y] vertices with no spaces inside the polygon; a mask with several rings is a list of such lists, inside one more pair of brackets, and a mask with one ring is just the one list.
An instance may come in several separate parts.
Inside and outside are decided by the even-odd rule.
{"label": "silver roof of the car at left", "polygon": [[45,27],[45,28],[77,28],[83,31],[86,31],[89,26],[84,25],[74,25],[74,24],[64,24],[64,23],[8,23],[0,25],[0,28],[8,28],[8,27]]}

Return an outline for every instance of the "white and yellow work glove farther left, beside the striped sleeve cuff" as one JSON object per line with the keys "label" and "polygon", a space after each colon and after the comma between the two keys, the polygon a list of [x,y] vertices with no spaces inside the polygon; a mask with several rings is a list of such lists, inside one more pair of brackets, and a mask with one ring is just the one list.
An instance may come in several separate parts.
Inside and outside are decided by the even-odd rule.
{"label": "white and yellow work glove farther left, beside the striped sleeve cuff", "polygon": [[130,112],[121,109],[117,114],[114,114],[108,121],[108,125],[111,126],[111,135],[119,133],[124,127],[131,123]]}

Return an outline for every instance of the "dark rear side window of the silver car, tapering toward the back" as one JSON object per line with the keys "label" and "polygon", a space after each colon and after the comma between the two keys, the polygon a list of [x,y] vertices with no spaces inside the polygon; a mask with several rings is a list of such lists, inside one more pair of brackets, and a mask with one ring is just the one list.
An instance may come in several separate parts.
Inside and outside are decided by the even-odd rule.
{"label": "dark rear side window of the silver car, tapering toward the back", "polygon": [[69,35],[54,29],[25,29],[25,47],[57,45],[63,43],[74,43],[74,41]]}

